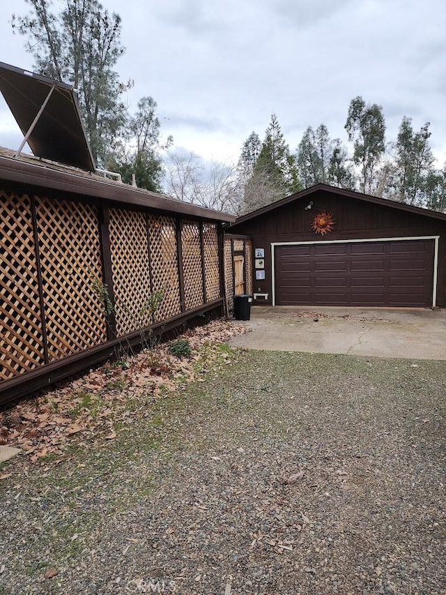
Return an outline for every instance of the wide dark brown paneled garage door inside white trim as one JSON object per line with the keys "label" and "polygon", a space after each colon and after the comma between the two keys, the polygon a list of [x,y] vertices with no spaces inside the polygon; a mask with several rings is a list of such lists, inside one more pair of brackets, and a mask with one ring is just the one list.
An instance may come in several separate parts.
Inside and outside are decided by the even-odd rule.
{"label": "wide dark brown paneled garage door inside white trim", "polygon": [[275,247],[277,306],[432,306],[433,240]]}

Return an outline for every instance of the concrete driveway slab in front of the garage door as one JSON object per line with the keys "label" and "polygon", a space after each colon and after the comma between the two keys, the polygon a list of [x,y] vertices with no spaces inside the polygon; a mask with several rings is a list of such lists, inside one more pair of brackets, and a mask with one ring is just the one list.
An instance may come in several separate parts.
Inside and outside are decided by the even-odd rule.
{"label": "concrete driveway slab in front of the garage door", "polygon": [[254,306],[231,345],[272,351],[446,360],[446,310]]}

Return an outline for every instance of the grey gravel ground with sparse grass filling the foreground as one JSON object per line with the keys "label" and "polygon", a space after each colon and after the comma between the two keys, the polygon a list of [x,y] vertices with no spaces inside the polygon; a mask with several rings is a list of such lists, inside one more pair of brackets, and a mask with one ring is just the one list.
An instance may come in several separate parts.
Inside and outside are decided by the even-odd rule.
{"label": "grey gravel ground with sparse grass filling the foreground", "polygon": [[1,467],[1,594],[446,592],[445,362],[231,361],[113,441]]}

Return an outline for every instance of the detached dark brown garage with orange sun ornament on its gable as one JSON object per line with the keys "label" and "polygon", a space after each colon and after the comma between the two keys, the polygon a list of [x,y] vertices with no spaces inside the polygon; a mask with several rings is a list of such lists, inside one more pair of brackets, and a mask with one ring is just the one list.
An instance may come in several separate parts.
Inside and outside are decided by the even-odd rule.
{"label": "detached dark brown garage with orange sun ornament on its gable", "polygon": [[318,183],[240,216],[253,304],[446,307],[446,213]]}

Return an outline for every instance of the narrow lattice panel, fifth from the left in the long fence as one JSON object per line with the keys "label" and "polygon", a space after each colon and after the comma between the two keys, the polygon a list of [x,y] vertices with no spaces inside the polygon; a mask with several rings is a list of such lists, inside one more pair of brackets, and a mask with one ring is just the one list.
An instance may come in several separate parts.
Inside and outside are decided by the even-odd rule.
{"label": "narrow lattice panel, fifth from the left in the long fence", "polygon": [[203,303],[203,273],[201,271],[200,229],[197,221],[183,221],[183,278],[186,310]]}

